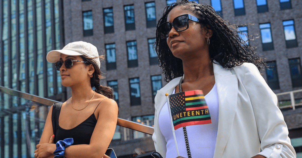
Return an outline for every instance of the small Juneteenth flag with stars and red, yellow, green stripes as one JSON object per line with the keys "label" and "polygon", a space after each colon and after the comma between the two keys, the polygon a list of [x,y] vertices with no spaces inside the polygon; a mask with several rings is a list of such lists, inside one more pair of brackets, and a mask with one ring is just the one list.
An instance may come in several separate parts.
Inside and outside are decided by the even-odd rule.
{"label": "small Juneteenth flag with stars and red, yellow, green stripes", "polygon": [[212,123],[201,90],[169,95],[169,105],[175,130],[184,126]]}

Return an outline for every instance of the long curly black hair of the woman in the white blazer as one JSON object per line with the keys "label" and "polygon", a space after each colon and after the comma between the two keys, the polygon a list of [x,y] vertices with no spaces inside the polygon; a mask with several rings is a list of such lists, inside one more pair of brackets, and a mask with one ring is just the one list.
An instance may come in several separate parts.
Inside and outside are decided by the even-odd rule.
{"label": "long curly black hair of the woman in the white blazer", "polygon": [[[192,11],[200,19],[201,27],[206,26],[213,31],[210,37],[209,53],[212,62],[215,60],[224,68],[239,66],[245,62],[253,63],[259,70],[265,66],[264,58],[260,58],[255,52],[256,47],[249,46],[239,37],[235,24],[223,20],[210,5],[198,4],[194,1],[182,0],[173,3],[164,9],[156,28],[155,49],[159,58],[159,67],[165,74],[165,81],[169,82],[176,77],[183,76],[182,60],[173,56],[166,39],[160,38],[159,25],[167,21],[169,12],[176,6],[183,6],[184,9]],[[247,35],[249,40],[254,38]]]}

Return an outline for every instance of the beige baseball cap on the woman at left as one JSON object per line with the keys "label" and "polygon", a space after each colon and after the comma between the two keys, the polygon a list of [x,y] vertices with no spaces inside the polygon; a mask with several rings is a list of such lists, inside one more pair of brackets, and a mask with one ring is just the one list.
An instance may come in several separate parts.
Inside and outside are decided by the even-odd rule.
{"label": "beige baseball cap on the woman at left", "polygon": [[70,56],[80,56],[84,55],[89,58],[93,58],[98,68],[101,68],[100,58],[98,58],[98,49],[91,43],[84,41],[76,41],[67,44],[61,50],[52,50],[47,53],[46,59],[50,63],[56,63],[60,60],[60,54],[70,55]]}

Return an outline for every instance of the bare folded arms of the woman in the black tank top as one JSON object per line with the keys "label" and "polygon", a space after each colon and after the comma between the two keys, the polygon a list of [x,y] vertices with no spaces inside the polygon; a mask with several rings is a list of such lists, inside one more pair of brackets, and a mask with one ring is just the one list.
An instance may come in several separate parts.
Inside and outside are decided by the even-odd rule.
{"label": "bare folded arms of the woman in the black tank top", "polygon": [[[39,157],[53,157],[53,152],[56,150],[56,144],[48,143],[49,137],[53,135],[51,113],[52,108],[47,115],[44,130],[40,139],[40,144],[37,145]],[[103,156],[114,135],[117,123],[117,104],[112,99],[106,99],[101,103],[101,108],[98,108],[98,121],[92,133],[89,144],[71,145],[65,149],[64,157],[66,158],[99,158]],[[95,113],[96,113],[95,112]],[[48,138],[47,138],[48,137]],[[47,140],[48,139],[48,140]],[[36,157],[36,156],[35,156]]]}

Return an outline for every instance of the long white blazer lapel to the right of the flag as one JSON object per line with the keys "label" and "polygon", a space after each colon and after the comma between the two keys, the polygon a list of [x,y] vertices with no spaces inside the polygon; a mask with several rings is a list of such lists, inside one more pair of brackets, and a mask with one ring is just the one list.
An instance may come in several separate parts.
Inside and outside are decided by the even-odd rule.
{"label": "long white blazer lapel to the right of the flag", "polygon": [[219,119],[214,158],[221,158],[230,135],[237,107],[238,79],[229,69],[213,63],[219,102]]}

